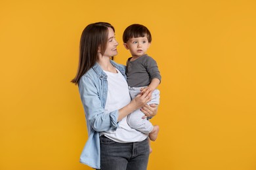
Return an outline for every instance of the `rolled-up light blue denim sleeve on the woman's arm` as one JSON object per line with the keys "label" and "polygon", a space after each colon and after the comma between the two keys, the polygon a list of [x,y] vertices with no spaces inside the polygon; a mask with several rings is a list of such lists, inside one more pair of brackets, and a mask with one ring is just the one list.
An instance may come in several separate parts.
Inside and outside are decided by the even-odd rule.
{"label": "rolled-up light blue denim sleeve on the woman's arm", "polygon": [[98,132],[117,129],[118,110],[108,113],[104,111],[103,106],[106,99],[103,99],[103,95],[107,95],[107,90],[103,91],[103,83],[100,81],[98,76],[88,75],[82,76],[79,81],[79,93],[85,110],[89,134],[92,131],[91,128]]}

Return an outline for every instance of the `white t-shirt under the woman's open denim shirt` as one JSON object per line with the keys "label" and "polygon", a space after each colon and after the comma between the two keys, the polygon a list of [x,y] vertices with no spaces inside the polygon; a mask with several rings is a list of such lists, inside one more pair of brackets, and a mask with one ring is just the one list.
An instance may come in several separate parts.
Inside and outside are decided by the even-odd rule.
{"label": "white t-shirt under the woman's open denim shirt", "polygon": [[[128,84],[120,71],[118,69],[116,70],[117,73],[104,71],[106,75],[108,75],[108,96],[105,106],[106,112],[119,110],[131,102]],[[116,131],[105,131],[101,132],[100,135],[105,135],[118,143],[140,142],[148,137],[148,135],[131,128],[127,124],[127,116],[120,120]]]}

